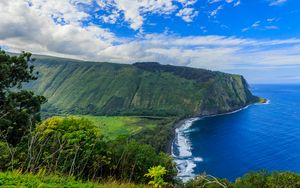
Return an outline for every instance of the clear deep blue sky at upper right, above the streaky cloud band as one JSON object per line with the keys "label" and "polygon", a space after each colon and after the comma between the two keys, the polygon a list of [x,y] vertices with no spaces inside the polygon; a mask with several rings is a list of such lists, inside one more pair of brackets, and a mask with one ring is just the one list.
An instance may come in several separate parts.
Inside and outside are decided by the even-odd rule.
{"label": "clear deep blue sky at upper right, above the streaky cloud band", "polygon": [[[260,39],[284,39],[299,36],[300,24],[297,18],[300,18],[300,2],[297,0],[233,0],[229,2],[231,3],[226,0],[195,1],[192,6],[188,7],[194,9],[197,16],[188,22],[176,16],[178,13],[176,11],[165,15],[147,13],[140,29],[144,33],[169,31],[180,36],[222,35]],[[272,4],[274,2],[278,4]],[[181,6],[180,3],[175,3],[175,5]],[[216,12],[212,15],[214,11]],[[130,28],[128,23],[124,23],[122,17],[114,24],[105,24],[96,18],[91,21],[109,28],[120,36],[134,37],[140,32],[140,30],[135,31]]]}

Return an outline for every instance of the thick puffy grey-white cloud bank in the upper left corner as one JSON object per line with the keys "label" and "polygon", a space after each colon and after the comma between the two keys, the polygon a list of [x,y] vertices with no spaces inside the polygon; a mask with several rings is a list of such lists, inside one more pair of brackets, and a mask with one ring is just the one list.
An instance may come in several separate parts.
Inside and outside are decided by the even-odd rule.
{"label": "thick puffy grey-white cloud bank in the upper left corner", "polygon": [[[29,6],[22,0],[0,2],[0,43],[12,49],[71,55],[87,58],[111,45],[114,34],[94,25],[82,27],[80,20],[87,16],[76,16],[75,5],[61,0],[65,9],[59,9],[52,1]],[[53,5],[53,6],[51,6]],[[73,7],[72,7],[73,6]],[[58,24],[54,18],[64,19]]]}

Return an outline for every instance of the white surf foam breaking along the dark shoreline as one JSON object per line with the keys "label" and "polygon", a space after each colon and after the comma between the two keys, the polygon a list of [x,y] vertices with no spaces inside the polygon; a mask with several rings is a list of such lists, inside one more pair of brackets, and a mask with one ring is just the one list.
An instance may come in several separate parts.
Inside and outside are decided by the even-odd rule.
{"label": "white surf foam breaking along the dark shoreline", "polygon": [[191,141],[186,135],[190,131],[190,127],[193,122],[199,120],[199,118],[192,118],[186,120],[183,125],[177,128],[176,137],[173,145],[178,150],[178,155],[174,153],[172,145],[172,155],[175,158],[178,174],[177,177],[182,181],[186,182],[195,176],[194,168],[197,166],[196,162],[202,162],[201,157],[193,157]]}

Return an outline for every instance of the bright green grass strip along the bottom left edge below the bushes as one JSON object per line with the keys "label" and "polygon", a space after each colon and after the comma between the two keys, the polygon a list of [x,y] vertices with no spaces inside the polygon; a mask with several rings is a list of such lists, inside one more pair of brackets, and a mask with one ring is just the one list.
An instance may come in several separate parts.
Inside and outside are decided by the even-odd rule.
{"label": "bright green grass strip along the bottom left edge below the bushes", "polygon": [[140,188],[146,185],[137,185],[133,183],[122,183],[118,181],[101,182],[82,182],[74,178],[62,177],[58,175],[45,176],[42,174],[22,174],[20,172],[0,172],[0,187],[5,188],[46,188],[46,187],[72,187],[72,188]]}

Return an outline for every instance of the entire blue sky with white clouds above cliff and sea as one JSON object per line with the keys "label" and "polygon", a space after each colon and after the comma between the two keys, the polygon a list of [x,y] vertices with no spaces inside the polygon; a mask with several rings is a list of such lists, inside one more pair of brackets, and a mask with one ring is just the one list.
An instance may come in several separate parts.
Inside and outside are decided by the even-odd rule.
{"label": "entire blue sky with white clouds above cliff and sea", "polygon": [[0,47],[300,83],[299,0],[0,0]]}

